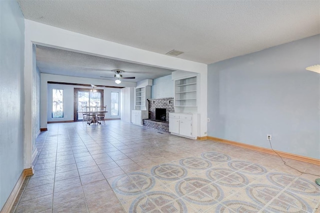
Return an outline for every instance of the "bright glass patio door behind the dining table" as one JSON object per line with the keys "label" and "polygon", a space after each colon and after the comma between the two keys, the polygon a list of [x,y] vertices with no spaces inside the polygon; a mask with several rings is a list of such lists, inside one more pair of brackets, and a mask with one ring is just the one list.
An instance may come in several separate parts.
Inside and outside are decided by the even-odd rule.
{"label": "bright glass patio door behind the dining table", "polygon": [[103,89],[74,88],[74,121],[82,120],[81,106],[103,106]]}

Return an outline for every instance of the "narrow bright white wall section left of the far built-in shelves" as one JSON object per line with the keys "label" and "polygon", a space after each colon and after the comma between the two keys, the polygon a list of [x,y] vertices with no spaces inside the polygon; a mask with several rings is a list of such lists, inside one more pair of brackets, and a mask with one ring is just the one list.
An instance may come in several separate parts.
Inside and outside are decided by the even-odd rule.
{"label": "narrow bright white wall section left of the far built-in shelves", "polygon": [[134,108],[134,88],[125,87],[120,90],[121,120],[131,122],[131,110]]}

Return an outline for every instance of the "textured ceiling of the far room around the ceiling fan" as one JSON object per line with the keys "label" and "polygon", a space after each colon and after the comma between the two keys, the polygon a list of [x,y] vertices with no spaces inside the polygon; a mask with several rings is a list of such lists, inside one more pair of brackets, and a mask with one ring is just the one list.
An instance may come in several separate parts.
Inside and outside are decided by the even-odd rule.
{"label": "textured ceiling of the far room around the ceiling fan", "polygon": [[135,79],[121,79],[131,82],[162,77],[174,71],[41,45],[36,45],[36,65],[43,73],[107,80],[112,78],[100,76],[113,77],[111,70],[121,69],[125,71],[121,73],[123,77],[135,76]]}

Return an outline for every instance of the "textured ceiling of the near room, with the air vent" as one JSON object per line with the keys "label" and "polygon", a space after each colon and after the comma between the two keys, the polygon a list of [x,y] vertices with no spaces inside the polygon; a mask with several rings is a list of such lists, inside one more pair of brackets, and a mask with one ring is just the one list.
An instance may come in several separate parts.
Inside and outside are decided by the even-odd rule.
{"label": "textured ceiling of the near room, with the air vent", "polygon": [[320,33],[320,0],[18,0],[26,19],[212,63]]}

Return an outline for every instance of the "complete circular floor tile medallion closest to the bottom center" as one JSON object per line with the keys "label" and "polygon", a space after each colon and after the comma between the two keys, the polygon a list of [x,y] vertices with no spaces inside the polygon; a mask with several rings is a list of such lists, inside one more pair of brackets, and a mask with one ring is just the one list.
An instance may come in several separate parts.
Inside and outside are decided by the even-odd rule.
{"label": "complete circular floor tile medallion closest to the bottom center", "polygon": [[188,202],[211,205],[223,198],[221,188],[210,180],[188,177],[175,184],[176,193]]}

